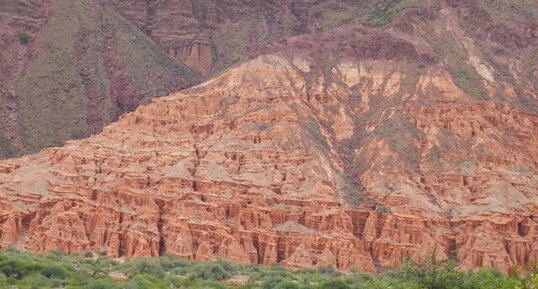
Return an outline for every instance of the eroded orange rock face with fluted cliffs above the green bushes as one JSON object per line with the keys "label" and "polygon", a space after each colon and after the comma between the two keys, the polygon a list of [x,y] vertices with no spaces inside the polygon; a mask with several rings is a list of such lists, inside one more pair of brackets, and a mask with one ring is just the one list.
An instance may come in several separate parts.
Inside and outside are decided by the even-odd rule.
{"label": "eroded orange rock face with fluted cliffs above the green bushes", "polygon": [[0,246],[376,271],[538,254],[538,115],[442,68],[260,56],[0,162]]}

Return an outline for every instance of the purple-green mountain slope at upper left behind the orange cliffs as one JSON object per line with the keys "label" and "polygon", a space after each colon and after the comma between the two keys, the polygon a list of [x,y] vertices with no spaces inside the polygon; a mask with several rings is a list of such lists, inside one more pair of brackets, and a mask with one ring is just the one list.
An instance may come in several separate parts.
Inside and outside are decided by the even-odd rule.
{"label": "purple-green mountain slope at upper left behind the orange cliffs", "polygon": [[98,1],[3,1],[0,157],[88,136],[195,74]]}

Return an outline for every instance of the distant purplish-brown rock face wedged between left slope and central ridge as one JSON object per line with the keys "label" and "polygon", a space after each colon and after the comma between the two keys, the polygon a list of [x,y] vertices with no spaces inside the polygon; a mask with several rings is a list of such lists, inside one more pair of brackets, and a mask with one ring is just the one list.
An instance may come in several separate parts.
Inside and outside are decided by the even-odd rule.
{"label": "distant purplish-brown rock face wedged between left slope and central ridge", "polygon": [[342,0],[112,0],[111,6],[168,54],[203,76],[293,35],[353,22],[374,7]]}

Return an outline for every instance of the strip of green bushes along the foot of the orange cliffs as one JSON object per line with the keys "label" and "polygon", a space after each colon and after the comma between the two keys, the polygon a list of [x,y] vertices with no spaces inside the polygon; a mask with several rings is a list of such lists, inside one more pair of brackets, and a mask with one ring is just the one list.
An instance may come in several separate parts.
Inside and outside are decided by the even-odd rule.
{"label": "strip of green bushes along the foot of the orange cliffs", "polygon": [[491,269],[461,272],[453,262],[430,261],[371,275],[330,267],[196,263],[170,256],[116,261],[92,253],[42,256],[7,250],[0,252],[0,288],[534,289],[538,273],[520,279]]}

